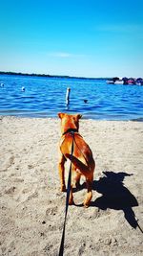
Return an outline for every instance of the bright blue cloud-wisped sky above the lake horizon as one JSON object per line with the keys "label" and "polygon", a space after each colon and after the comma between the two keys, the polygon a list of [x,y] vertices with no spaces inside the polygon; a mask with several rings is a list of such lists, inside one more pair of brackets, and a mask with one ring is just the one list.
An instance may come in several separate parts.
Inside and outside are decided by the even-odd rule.
{"label": "bright blue cloud-wisped sky above the lake horizon", "polygon": [[0,0],[0,70],[143,77],[143,1]]}

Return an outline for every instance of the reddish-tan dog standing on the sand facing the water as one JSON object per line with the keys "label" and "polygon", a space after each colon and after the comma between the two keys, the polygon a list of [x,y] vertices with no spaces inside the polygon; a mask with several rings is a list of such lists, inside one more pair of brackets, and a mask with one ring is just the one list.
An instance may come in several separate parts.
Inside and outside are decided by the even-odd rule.
{"label": "reddish-tan dog standing on the sand facing the water", "polygon": [[[69,115],[66,113],[58,113],[61,119],[62,137],[60,141],[60,158],[58,163],[59,176],[61,181],[61,191],[66,191],[65,185],[65,161],[72,160],[72,175],[74,174],[74,182],[76,187],[79,185],[80,176],[86,177],[87,195],[84,199],[84,206],[88,207],[92,199],[92,180],[95,167],[92,158],[92,151],[82,136],[78,133],[79,119],[81,115]],[[73,132],[73,137],[72,133]],[[73,154],[72,153],[73,140]],[[72,180],[73,181],[73,180]],[[73,184],[72,184],[73,185]],[[73,203],[72,189],[69,204]]]}

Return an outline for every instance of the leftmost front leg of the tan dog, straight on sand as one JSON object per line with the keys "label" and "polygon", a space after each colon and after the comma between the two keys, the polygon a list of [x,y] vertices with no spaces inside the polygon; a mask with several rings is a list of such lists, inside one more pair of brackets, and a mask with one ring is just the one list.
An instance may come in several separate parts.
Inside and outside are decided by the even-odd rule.
{"label": "leftmost front leg of the tan dog, straight on sand", "polygon": [[59,162],[58,162],[58,172],[61,182],[61,192],[66,191],[66,185],[65,185],[65,162],[66,158],[63,154],[60,154]]}

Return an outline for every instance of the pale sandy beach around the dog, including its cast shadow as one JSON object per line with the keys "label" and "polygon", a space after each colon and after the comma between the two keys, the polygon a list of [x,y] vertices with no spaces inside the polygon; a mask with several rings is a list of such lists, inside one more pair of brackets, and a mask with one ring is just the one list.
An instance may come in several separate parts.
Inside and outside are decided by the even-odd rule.
{"label": "pale sandy beach around the dog, including its cast shadow", "polygon": [[[79,131],[96,161],[93,197],[84,208],[85,188],[74,193],[64,255],[143,255],[143,123],[81,120]],[[1,117],[0,136],[0,255],[58,255],[60,121]]]}

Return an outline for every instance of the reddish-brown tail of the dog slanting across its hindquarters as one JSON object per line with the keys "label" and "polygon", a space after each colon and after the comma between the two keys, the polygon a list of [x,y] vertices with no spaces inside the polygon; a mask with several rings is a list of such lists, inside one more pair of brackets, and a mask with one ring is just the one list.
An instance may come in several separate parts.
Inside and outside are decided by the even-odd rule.
{"label": "reddish-brown tail of the dog slanting across its hindquarters", "polygon": [[87,165],[85,165],[83,162],[81,162],[79,159],[77,159],[75,156],[73,156],[70,153],[66,153],[65,156],[72,161],[72,164],[81,172],[82,175],[85,175],[85,176],[88,175],[90,170]]}

